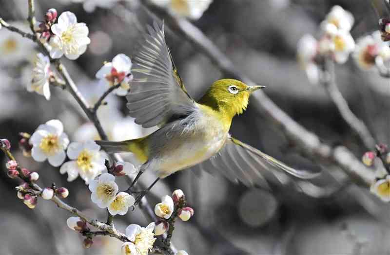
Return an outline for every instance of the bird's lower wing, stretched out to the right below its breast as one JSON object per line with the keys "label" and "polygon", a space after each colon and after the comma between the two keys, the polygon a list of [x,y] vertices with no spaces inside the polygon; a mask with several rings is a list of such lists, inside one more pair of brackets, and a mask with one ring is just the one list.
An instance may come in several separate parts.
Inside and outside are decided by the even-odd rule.
{"label": "bird's lower wing, stretched out to the right below its breast", "polygon": [[286,173],[300,179],[312,179],[319,175],[318,172],[294,169],[233,137],[227,139],[214,157],[193,166],[193,169],[211,174],[218,172],[232,182],[264,188],[270,188],[267,181],[289,182],[291,178]]}

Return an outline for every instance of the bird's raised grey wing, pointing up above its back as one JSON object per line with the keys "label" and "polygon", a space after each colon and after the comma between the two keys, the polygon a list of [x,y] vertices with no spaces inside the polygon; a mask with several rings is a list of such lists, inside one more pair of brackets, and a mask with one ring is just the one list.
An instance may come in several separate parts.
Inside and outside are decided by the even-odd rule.
{"label": "bird's raised grey wing, pointing up above its back", "polygon": [[143,127],[163,125],[174,115],[188,115],[196,108],[186,91],[168,46],[164,28],[155,22],[133,57],[130,93],[126,96],[129,115]]}

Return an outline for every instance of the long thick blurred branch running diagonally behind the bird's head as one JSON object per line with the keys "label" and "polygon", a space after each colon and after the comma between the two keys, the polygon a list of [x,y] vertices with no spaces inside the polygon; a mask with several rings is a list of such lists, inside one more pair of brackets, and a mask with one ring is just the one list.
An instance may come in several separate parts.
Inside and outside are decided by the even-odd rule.
{"label": "long thick blurred branch running diagonally behind the bird's head", "polygon": [[[251,79],[240,73],[232,61],[188,20],[173,16],[150,0],[141,0],[141,2],[159,18],[163,19],[164,23],[177,35],[191,42],[196,49],[208,56],[225,76],[239,79],[249,86],[255,85]],[[275,123],[307,155],[319,161],[331,162],[340,166],[352,179],[366,186],[369,186],[374,180],[372,171],[366,168],[348,148],[344,146],[333,148],[322,143],[316,134],[295,122],[287,113],[277,107],[263,91],[254,93],[251,105],[258,113],[264,114]]]}

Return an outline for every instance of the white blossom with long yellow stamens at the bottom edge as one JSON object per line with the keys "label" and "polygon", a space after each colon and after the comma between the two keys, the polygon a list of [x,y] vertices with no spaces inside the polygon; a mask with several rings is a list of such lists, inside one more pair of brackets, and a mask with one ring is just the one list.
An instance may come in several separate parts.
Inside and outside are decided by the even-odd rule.
{"label": "white blossom with long yellow stamens at the bottom edge", "polygon": [[150,223],[146,228],[137,224],[130,224],[126,228],[126,236],[134,243],[137,250],[137,255],[148,255],[156,241],[153,230],[155,222]]}

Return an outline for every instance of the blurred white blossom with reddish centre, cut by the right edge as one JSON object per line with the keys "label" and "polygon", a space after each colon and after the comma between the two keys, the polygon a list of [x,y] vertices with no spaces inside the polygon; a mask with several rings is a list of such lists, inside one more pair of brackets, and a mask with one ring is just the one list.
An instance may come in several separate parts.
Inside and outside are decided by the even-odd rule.
{"label": "blurred white blossom with reddish centre, cut by the right edge", "polygon": [[375,58],[378,56],[383,61],[390,59],[389,43],[382,41],[379,31],[357,40],[353,57],[361,69],[369,70],[372,68],[375,65]]}

